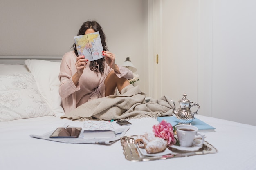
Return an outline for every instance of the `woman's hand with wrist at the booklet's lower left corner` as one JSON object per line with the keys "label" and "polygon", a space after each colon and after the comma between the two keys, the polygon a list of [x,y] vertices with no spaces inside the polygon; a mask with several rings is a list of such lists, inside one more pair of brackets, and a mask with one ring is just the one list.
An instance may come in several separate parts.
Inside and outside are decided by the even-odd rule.
{"label": "woman's hand with wrist at the booklet's lower left corner", "polygon": [[76,58],[76,73],[72,77],[72,81],[74,82],[75,85],[78,84],[78,80],[83,74],[83,70],[86,68],[87,62],[89,60],[85,59],[84,56],[78,56]]}

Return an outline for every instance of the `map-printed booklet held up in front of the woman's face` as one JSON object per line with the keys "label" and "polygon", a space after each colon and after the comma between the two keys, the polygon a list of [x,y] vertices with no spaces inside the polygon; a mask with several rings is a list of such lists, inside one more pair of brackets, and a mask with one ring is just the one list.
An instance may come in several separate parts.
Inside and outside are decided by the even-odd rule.
{"label": "map-printed booklet held up in front of the woman's face", "polygon": [[78,55],[84,55],[89,61],[103,58],[103,47],[99,31],[95,33],[75,36],[76,50]]}

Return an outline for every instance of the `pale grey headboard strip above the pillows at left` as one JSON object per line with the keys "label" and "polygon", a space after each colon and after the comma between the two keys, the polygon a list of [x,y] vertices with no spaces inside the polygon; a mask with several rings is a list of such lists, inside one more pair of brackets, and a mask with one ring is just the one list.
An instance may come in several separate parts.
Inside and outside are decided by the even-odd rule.
{"label": "pale grey headboard strip above the pillows at left", "polygon": [[25,64],[27,59],[61,62],[62,56],[0,56],[0,64]]}

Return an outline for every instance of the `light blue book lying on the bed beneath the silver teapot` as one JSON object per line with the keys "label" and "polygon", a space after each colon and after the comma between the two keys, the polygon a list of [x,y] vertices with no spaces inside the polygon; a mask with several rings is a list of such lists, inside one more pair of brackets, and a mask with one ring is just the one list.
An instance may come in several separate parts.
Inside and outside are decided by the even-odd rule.
{"label": "light blue book lying on the bed beneath the silver teapot", "polygon": [[[179,124],[175,116],[164,116],[164,117],[157,117],[157,121],[161,122],[162,120],[166,120],[172,126]],[[215,128],[210,126],[209,124],[205,123],[204,121],[195,117],[195,120],[191,123],[193,126],[198,128],[199,132],[214,132]]]}

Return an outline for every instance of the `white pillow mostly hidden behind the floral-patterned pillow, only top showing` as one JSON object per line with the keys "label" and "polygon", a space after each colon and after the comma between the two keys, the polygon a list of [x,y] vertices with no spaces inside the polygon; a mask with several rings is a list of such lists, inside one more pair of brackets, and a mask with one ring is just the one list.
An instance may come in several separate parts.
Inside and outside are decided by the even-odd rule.
{"label": "white pillow mostly hidden behind the floral-patterned pillow, only top showing", "polygon": [[14,73],[28,73],[29,70],[27,69],[26,65],[19,65],[19,64],[0,64],[0,75],[10,75]]}

